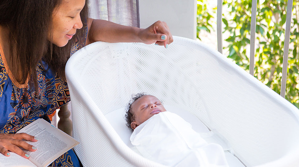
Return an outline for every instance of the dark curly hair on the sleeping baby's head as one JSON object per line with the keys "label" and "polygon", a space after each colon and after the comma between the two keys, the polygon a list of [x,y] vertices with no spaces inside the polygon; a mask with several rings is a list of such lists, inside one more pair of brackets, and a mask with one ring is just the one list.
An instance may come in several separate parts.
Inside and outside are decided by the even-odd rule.
{"label": "dark curly hair on the sleeping baby's head", "polygon": [[139,99],[140,97],[142,97],[144,95],[147,95],[147,94],[145,94],[145,93],[138,93],[136,95],[132,95],[132,99],[127,104],[125,120],[126,120],[126,126],[128,128],[130,128],[131,132],[133,132],[133,129],[131,128],[131,123],[135,120],[135,114],[133,113],[133,111],[131,109],[131,106],[134,103],[134,101],[136,101],[137,99]]}

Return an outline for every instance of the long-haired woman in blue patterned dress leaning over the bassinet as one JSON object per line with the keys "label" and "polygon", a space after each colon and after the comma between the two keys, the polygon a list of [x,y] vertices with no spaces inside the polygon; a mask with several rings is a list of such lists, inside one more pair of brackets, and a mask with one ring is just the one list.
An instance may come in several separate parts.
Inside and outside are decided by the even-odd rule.
{"label": "long-haired woman in blue patterned dress leaning over the bassinet", "polygon": [[[18,130],[38,118],[49,120],[69,99],[64,68],[69,56],[95,41],[156,43],[167,48],[173,39],[166,23],[147,29],[121,26],[87,17],[85,0],[0,1],[0,152],[29,158],[19,147],[37,141]],[[160,34],[161,33],[161,34]],[[49,120],[50,121],[50,120]],[[38,148],[37,148],[38,149]],[[51,166],[78,166],[68,151]]]}

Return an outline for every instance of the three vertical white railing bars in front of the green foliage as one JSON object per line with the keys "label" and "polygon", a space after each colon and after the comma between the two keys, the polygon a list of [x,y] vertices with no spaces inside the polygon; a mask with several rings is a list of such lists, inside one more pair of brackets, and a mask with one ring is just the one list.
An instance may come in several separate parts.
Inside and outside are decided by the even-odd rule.
{"label": "three vertical white railing bars in front of the green foliage", "polygon": [[[222,53],[222,3],[223,0],[217,0],[217,48]],[[287,85],[287,60],[289,53],[291,18],[292,18],[293,0],[287,1],[287,21],[286,33],[284,39],[283,62],[282,62],[282,79],[280,95],[285,97]],[[255,55],[255,27],[256,27],[256,9],[257,0],[252,0],[251,9],[251,28],[250,28],[250,57],[249,57],[249,73],[254,75],[254,55]],[[252,33],[251,33],[252,32]]]}

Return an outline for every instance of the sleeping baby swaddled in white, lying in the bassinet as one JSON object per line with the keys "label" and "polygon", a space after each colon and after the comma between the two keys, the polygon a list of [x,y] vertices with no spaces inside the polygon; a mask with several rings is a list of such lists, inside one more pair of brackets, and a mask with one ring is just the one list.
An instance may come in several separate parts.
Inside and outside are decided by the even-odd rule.
{"label": "sleeping baby swaddled in white, lying in the bassinet", "polygon": [[155,96],[132,97],[125,118],[131,143],[145,158],[172,167],[228,167],[220,145],[207,143]]}

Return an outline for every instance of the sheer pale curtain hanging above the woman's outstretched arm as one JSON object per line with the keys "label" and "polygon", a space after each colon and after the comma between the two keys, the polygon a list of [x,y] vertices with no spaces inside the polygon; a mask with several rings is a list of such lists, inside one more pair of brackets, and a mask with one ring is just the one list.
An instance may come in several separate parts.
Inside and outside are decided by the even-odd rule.
{"label": "sheer pale curtain hanging above the woman's outstretched arm", "polygon": [[139,0],[89,0],[89,16],[140,27]]}

